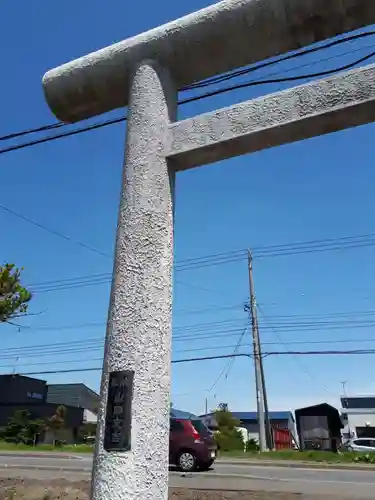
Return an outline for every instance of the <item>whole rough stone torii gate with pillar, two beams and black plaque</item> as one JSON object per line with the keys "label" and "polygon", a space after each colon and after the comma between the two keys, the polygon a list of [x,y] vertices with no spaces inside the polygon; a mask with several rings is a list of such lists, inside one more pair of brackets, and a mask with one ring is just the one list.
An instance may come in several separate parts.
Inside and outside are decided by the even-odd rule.
{"label": "whole rough stone torii gate with pillar, two beams and black plaque", "polygon": [[224,0],[44,76],[64,122],[129,108],[94,499],[168,496],[176,172],[375,120],[374,65],[182,121],[178,89],[372,23],[374,0]]}

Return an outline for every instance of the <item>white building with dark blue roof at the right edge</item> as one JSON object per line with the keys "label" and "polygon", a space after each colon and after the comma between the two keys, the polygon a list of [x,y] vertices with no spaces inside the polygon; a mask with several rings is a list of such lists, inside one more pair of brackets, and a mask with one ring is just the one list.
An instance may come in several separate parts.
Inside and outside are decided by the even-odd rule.
{"label": "white building with dark blue roof at the right edge", "polygon": [[342,396],[340,399],[343,437],[375,437],[375,396]]}

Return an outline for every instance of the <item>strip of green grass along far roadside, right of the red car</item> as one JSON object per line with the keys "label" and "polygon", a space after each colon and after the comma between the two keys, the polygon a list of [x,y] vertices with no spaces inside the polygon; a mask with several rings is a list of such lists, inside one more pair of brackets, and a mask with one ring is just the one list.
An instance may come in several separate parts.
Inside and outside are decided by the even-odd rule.
{"label": "strip of green grass along far roadside, right of the red car", "polygon": [[375,463],[375,453],[364,454],[355,452],[345,452],[342,454],[329,451],[271,451],[268,453],[227,451],[221,452],[220,456],[229,458],[242,458],[248,460],[287,460],[299,462],[315,463]]}

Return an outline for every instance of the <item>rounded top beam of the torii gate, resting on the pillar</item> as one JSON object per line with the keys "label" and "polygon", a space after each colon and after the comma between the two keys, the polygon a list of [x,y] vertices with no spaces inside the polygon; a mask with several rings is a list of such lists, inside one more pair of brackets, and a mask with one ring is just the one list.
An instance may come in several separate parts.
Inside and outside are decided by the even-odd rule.
{"label": "rounded top beam of the torii gate, resting on the pillar", "polygon": [[57,118],[75,122],[126,106],[141,60],[181,87],[372,23],[374,0],[224,0],[49,71],[44,91]]}

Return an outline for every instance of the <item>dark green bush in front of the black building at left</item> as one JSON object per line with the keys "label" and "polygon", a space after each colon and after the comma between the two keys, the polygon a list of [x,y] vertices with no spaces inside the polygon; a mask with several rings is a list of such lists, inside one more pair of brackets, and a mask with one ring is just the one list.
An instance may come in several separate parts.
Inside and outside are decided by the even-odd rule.
{"label": "dark green bush in front of the black building at left", "polygon": [[3,429],[2,437],[12,443],[35,444],[44,427],[43,420],[32,419],[27,410],[17,410]]}

